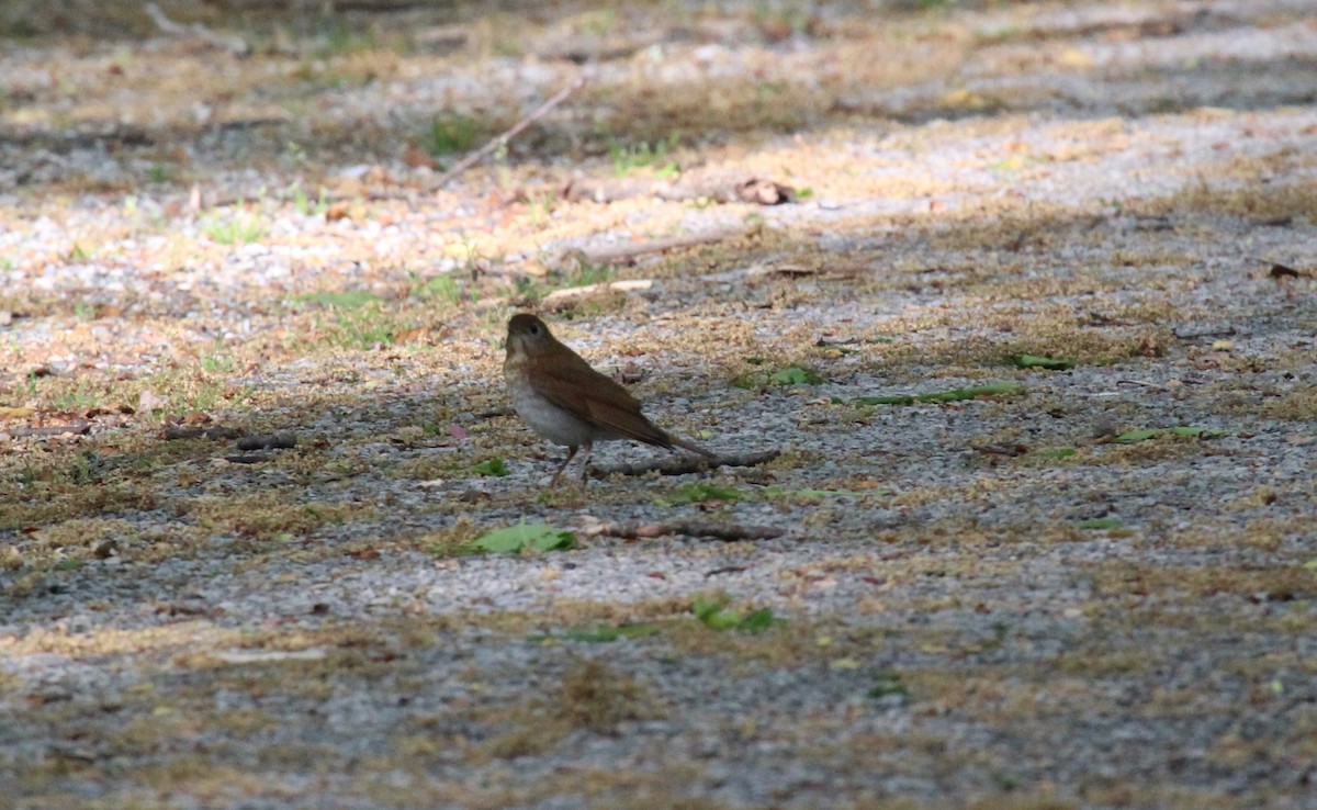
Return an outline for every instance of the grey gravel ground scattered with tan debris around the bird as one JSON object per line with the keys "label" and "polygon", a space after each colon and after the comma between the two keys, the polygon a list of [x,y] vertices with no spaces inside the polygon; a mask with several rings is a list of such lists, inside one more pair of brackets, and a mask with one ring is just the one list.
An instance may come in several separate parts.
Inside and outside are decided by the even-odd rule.
{"label": "grey gravel ground scattered with tan debris around the bird", "polygon": [[[674,7],[614,29],[666,45],[579,68],[403,51],[313,86],[325,120],[390,144],[482,88],[528,111],[577,70],[664,92],[749,76],[805,111],[701,158],[809,186],[794,204],[560,204],[533,227],[510,184],[607,175],[551,148],[587,144],[622,90],[558,113],[568,134],[511,180],[437,194],[400,146],[324,145],[308,169],[284,145],[325,120],[190,134],[170,116],[213,99],[157,90],[188,159],[144,182],[165,136],[132,90],[97,117],[86,76],[191,45],[0,57],[26,99],[0,119],[0,807],[1317,807],[1317,9],[1089,5],[784,12],[780,38],[777,17]],[[587,13],[541,21],[536,53],[590,41]],[[914,68],[830,78],[878,46]],[[216,70],[246,87],[300,63],[262,59]],[[278,87],[234,92],[283,109]],[[129,124],[151,144],[84,137]],[[311,173],[344,216],[190,202]],[[216,236],[242,216],[255,238]],[[557,450],[498,370],[524,284],[498,284],[554,250],[726,227],[748,236],[644,259],[623,275],[648,290],[551,320],[639,377],[660,424],[782,454],[541,495]],[[468,270],[489,288],[415,292]],[[344,290],[429,315],[353,342],[374,321],[307,308]],[[774,382],[788,367],[813,382]],[[1021,389],[863,399],[1000,382]],[[166,440],[171,418],[298,446],[233,462],[232,441]],[[86,432],[24,432],[66,423]],[[507,475],[471,472],[494,457]],[[519,520],[577,547],[469,553]],[[607,529],[681,522],[776,536]],[[719,630],[709,601],[774,622]]]}

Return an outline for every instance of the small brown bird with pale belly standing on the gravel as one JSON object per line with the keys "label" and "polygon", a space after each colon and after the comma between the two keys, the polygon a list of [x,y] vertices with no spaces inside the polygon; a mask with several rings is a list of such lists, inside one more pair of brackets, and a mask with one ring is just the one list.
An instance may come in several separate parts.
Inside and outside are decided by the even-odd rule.
{"label": "small brown bird with pale belly standing on the gravel", "polygon": [[585,481],[595,441],[631,439],[665,450],[685,448],[716,458],[705,448],[656,427],[640,412],[635,396],[558,342],[533,315],[522,312],[507,321],[503,379],[512,407],[525,424],[549,441],[568,446],[568,458],[553,474],[551,487],[582,446],[581,481]]}

